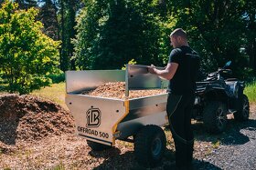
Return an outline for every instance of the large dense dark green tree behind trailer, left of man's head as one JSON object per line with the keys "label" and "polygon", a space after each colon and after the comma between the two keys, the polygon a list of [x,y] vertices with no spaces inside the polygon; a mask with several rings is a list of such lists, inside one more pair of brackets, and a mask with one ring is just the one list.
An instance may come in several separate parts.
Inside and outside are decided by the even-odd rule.
{"label": "large dense dark green tree behind trailer, left of man's head", "polygon": [[168,36],[155,2],[85,1],[74,40],[80,69],[117,69],[132,59],[163,65]]}

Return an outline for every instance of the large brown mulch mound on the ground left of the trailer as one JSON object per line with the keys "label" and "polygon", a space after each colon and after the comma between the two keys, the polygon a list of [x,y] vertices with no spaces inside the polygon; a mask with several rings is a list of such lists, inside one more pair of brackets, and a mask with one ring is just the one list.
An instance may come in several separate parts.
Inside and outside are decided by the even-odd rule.
{"label": "large brown mulch mound on the ground left of the trailer", "polygon": [[[0,95],[0,147],[73,132],[73,118],[60,105],[31,95]],[[3,147],[2,147],[3,148]]]}

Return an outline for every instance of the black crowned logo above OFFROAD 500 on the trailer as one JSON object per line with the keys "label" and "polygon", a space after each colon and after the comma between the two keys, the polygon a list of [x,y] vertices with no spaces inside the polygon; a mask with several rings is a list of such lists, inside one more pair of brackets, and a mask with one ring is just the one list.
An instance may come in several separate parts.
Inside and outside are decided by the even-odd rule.
{"label": "black crowned logo above OFFROAD 500 on the trailer", "polygon": [[86,112],[87,127],[99,127],[101,125],[101,111],[99,108],[91,108]]}

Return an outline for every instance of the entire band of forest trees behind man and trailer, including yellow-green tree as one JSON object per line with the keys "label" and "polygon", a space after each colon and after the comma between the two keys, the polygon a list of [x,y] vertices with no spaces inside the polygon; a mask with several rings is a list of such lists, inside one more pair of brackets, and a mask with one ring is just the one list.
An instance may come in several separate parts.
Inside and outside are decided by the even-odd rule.
{"label": "entire band of forest trees behind man and trailer, including yellow-green tree", "polygon": [[67,70],[164,66],[169,34],[187,31],[205,74],[232,61],[256,71],[254,0],[0,0],[0,90],[29,93]]}

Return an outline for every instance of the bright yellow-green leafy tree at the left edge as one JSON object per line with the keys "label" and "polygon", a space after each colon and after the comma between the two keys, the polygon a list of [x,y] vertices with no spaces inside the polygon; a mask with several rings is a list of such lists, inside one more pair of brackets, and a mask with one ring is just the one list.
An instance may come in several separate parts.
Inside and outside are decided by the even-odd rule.
{"label": "bright yellow-green leafy tree at the left edge", "polygon": [[0,72],[11,93],[27,94],[49,85],[47,75],[58,65],[59,42],[41,32],[43,25],[35,20],[35,8],[17,7],[6,0],[0,10]]}

